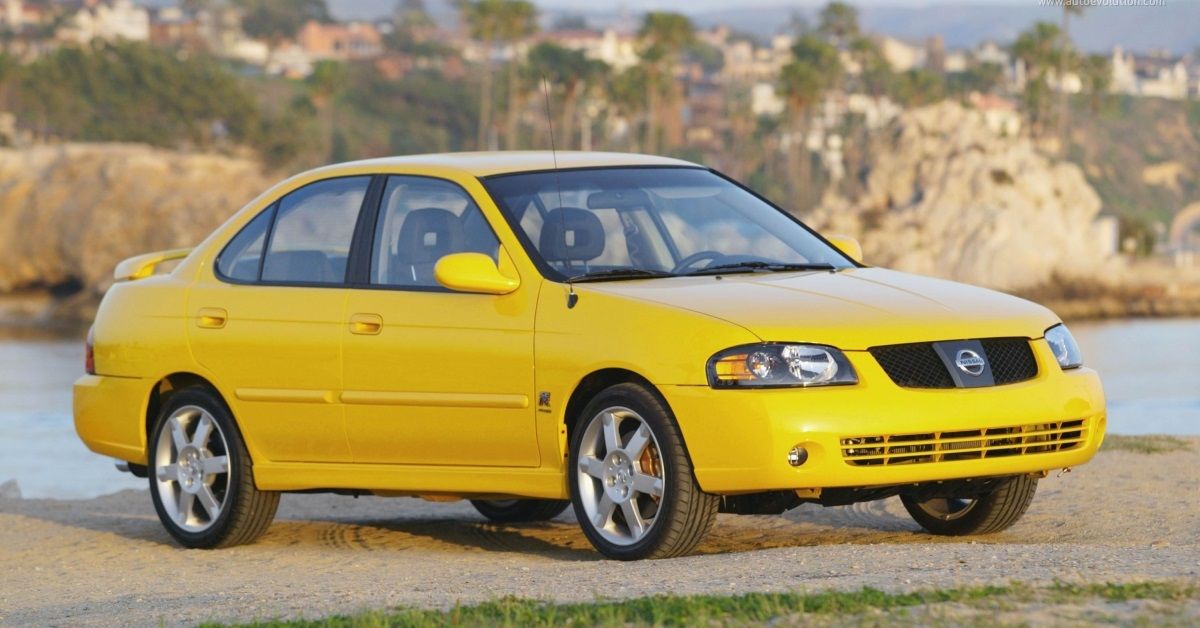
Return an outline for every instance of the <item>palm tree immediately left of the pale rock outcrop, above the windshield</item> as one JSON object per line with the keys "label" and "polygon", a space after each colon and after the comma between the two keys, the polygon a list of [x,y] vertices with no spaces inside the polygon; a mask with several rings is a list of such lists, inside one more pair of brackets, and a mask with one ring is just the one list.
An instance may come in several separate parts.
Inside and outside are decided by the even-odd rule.
{"label": "palm tree immediately left of the pale rock outcrop, above the windshield", "polygon": [[809,160],[802,159],[809,108],[836,85],[841,74],[838,49],[815,35],[804,35],[792,44],[792,60],[780,72],[780,91],[791,114],[787,160],[793,208],[802,205],[810,183]]}

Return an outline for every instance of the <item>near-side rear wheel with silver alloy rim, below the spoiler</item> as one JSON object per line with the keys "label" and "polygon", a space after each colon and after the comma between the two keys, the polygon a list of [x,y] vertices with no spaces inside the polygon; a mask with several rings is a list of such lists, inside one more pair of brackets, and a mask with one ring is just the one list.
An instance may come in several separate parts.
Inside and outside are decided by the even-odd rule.
{"label": "near-side rear wheel with silver alloy rim, below the spoiler", "polygon": [[191,549],[251,543],[275,519],[280,494],[254,488],[233,415],[203,388],[176,393],[149,444],[150,498],[167,532]]}

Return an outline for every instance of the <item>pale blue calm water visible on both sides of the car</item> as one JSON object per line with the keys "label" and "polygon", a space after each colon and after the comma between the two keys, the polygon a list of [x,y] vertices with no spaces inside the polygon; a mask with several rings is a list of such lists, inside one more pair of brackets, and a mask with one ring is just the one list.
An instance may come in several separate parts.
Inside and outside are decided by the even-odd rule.
{"label": "pale blue calm water visible on both sides of the car", "polygon": [[[1070,325],[1109,400],[1109,431],[1200,436],[1200,319],[1128,319]],[[0,483],[25,497],[80,498],[146,480],[89,451],[71,419],[83,342],[0,337]]]}

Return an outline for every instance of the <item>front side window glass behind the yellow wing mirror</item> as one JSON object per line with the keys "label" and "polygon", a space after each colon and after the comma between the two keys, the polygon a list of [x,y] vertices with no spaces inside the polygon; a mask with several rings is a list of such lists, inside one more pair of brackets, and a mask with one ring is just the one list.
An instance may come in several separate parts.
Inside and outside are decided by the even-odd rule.
{"label": "front side window glass behind the yellow wing mirror", "polygon": [[497,259],[487,219],[457,185],[425,177],[389,177],[376,225],[371,283],[437,288],[433,268],[451,253]]}

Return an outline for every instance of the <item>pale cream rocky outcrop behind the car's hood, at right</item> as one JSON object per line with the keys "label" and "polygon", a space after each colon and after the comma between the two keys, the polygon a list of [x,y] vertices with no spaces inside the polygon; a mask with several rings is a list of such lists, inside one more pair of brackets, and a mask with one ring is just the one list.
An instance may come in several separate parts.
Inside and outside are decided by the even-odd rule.
{"label": "pale cream rocky outcrop behind the car's hood, at right", "polygon": [[953,102],[906,112],[872,140],[865,192],[806,220],[859,238],[872,265],[994,288],[1102,275],[1099,196],[1010,130]]}

